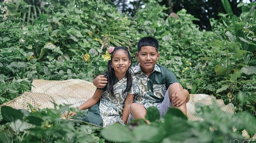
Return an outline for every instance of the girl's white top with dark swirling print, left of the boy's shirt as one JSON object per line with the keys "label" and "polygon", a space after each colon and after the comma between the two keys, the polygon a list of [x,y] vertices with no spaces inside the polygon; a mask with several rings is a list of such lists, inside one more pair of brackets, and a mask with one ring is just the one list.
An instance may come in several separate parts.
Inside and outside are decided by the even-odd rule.
{"label": "girl's white top with dark swirling print, left of the boy's shirt", "polygon": [[113,88],[116,98],[112,97],[112,95],[110,95],[107,91],[103,92],[100,98],[99,106],[100,115],[103,120],[103,127],[112,125],[117,122],[124,125],[124,122],[122,121],[122,115],[125,98],[127,94],[135,94],[139,92],[138,80],[137,78],[134,78],[134,76],[132,76],[132,87],[128,93],[124,92],[126,84],[126,77],[115,83]]}

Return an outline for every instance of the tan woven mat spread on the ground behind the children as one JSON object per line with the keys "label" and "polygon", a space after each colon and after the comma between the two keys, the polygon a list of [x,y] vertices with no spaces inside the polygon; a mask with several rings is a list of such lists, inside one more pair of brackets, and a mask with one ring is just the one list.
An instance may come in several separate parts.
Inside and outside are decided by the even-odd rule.
{"label": "tan woven mat spread on the ground behind the children", "polygon": [[[30,110],[27,103],[35,108],[43,109],[54,108],[53,102],[55,102],[57,105],[69,104],[71,107],[79,107],[93,96],[96,89],[93,83],[79,79],[63,81],[40,79],[33,80],[33,85],[31,92],[25,92],[1,106]],[[190,94],[190,100],[186,104],[188,119],[191,121],[202,120],[202,118],[194,115],[195,104],[211,105],[213,100],[216,100],[216,98],[210,95]],[[234,113],[232,104],[225,105],[222,99],[217,99],[216,102],[223,111]]]}

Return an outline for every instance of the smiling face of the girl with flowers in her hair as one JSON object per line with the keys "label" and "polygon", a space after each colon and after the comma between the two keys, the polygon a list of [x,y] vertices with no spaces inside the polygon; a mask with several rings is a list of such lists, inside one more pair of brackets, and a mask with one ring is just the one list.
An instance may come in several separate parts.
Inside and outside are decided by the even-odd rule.
{"label": "smiling face of the girl with flowers in her hair", "polygon": [[112,63],[110,64],[115,71],[115,75],[125,76],[126,71],[131,65],[131,61],[124,50],[118,50],[114,53],[113,58],[111,59]]}

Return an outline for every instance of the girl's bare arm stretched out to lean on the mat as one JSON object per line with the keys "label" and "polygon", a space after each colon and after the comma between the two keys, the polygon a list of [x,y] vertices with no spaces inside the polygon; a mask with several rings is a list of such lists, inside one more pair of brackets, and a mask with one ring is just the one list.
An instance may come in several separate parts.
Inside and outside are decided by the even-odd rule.
{"label": "girl's bare arm stretched out to lean on the mat", "polygon": [[91,97],[89,100],[87,100],[83,105],[79,106],[79,110],[85,110],[85,109],[88,109],[88,108],[94,106],[100,100],[102,93],[103,93],[102,90],[96,89],[93,97]]}

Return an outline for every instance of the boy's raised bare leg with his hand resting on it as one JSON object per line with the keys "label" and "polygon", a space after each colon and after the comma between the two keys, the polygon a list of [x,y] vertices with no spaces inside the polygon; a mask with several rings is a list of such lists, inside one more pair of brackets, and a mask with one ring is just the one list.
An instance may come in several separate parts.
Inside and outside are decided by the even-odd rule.
{"label": "boy's raised bare leg with his hand resting on it", "polygon": [[[182,86],[180,83],[173,83],[169,86],[169,99],[170,101],[172,102],[172,95],[177,92],[177,91],[180,91],[180,90],[183,90]],[[187,107],[186,107],[186,102],[184,102],[181,106],[179,107],[176,107],[175,105],[172,104],[173,107],[177,108],[177,109],[180,109],[183,114],[187,115]]]}

